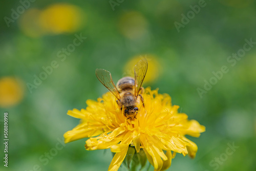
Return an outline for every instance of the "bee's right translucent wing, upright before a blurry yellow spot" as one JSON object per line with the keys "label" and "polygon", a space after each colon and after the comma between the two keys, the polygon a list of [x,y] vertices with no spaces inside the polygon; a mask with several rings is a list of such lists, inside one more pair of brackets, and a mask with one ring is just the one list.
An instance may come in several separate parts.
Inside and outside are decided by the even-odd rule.
{"label": "bee's right translucent wing, upright before a blurry yellow spot", "polygon": [[147,71],[147,60],[146,58],[141,59],[134,67],[134,78],[135,78],[135,96],[139,95],[139,91],[142,82],[145,78]]}

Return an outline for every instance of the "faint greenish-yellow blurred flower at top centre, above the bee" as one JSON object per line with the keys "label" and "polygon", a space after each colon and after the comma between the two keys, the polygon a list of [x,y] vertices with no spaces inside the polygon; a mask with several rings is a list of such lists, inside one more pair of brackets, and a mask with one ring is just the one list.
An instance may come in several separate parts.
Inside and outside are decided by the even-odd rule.
{"label": "faint greenish-yellow blurred flower at top centre, above the bee", "polygon": [[119,18],[119,30],[126,38],[135,39],[147,32],[147,21],[139,12],[125,12]]}

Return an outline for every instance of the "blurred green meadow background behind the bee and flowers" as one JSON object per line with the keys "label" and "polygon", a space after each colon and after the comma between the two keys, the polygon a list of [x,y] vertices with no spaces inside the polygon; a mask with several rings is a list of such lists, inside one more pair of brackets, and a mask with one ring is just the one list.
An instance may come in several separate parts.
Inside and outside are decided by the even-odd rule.
{"label": "blurred green meadow background behind the bee and flowers", "polygon": [[[7,27],[4,16],[11,15],[18,1],[5,1],[0,7],[1,78],[18,77],[26,86],[43,66],[53,60],[59,64],[32,93],[26,86],[18,104],[1,109],[1,142],[3,114],[9,113],[9,167],[3,166],[1,143],[1,170],[33,170],[36,165],[42,170],[107,170],[110,150],[86,151],[86,139],[66,144],[49,160],[40,157],[53,151],[58,139],[62,141],[63,134],[78,124],[78,119],[66,115],[68,110],[86,108],[87,99],[96,100],[107,92],[95,69],[111,71],[116,82],[125,63],[136,55],[154,55],[161,66],[158,78],[144,87],[169,94],[173,104],[180,105],[179,112],[182,109],[189,119],[206,126],[200,138],[189,137],[198,145],[196,158],[177,154],[168,170],[256,170],[256,47],[234,66],[227,61],[243,49],[245,39],[256,41],[255,1],[205,1],[206,6],[180,32],[174,22],[181,23],[181,14],[199,1],[123,1],[114,11],[109,1],[36,1],[30,8],[62,2],[80,7],[86,22],[72,33],[40,37],[24,34],[19,19]],[[144,17],[146,35],[130,39],[120,32],[120,17],[130,11]],[[61,61],[56,53],[80,33],[87,39]],[[203,89],[204,80],[209,81],[222,66],[228,67],[228,73],[200,98],[197,89]],[[236,151],[215,164],[232,143],[239,146]]]}

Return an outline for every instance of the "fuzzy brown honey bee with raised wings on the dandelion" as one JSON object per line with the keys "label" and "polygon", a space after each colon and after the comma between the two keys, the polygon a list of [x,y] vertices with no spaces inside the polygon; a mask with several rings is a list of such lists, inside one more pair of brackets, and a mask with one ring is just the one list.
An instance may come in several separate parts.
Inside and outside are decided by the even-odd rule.
{"label": "fuzzy brown honey bee with raised wings on the dandelion", "polygon": [[144,106],[141,94],[144,88],[141,87],[147,71],[146,58],[141,59],[134,67],[134,78],[123,77],[118,80],[117,87],[112,79],[111,73],[104,69],[96,69],[96,76],[99,81],[113,93],[117,98],[117,104],[127,119],[137,119],[139,101]]}

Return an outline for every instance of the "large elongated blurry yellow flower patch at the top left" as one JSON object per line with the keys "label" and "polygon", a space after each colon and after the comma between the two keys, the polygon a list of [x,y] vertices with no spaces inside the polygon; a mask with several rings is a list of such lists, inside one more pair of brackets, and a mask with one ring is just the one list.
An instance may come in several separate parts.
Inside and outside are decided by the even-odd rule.
{"label": "large elongated blurry yellow flower patch at the top left", "polygon": [[83,26],[84,19],[83,11],[77,6],[53,4],[45,10],[26,10],[20,17],[19,27],[30,37],[73,33]]}

